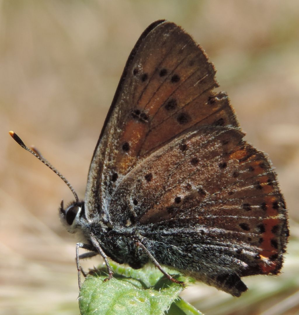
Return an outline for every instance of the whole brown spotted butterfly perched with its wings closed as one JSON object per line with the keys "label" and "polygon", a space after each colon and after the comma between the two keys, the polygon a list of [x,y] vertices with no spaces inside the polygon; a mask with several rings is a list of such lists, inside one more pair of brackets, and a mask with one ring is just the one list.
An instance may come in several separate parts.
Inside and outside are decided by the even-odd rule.
{"label": "whole brown spotted butterfly perched with its wings closed", "polygon": [[93,152],[85,199],[73,191],[76,201],[59,210],[85,239],[76,245],[79,277],[79,259],[98,254],[107,279],[108,257],[136,269],[151,261],[174,282],[163,265],[234,296],[247,289],[241,277],[279,273],[284,198],[217,87],[214,66],[181,27],[158,20],[142,33]]}

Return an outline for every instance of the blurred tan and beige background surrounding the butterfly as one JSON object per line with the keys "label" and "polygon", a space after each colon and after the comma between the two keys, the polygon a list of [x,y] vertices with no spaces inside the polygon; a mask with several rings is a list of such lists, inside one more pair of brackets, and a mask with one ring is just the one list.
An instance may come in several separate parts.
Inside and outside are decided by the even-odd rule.
{"label": "blurred tan and beige background surrounding the butterfly", "polygon": [[245,139],[276,168],[291,228],[279,277],[243,278],[249,290],[240,298],[200,283],[182,296],[205,314],[298,313],[298,16],[296,0],[0,1],[0,313],[79,313],[76,240],[58,217],[61,199],[73,196],[8,131],[37,146],[83,198],[127,57],[164,18],[214,63]]}

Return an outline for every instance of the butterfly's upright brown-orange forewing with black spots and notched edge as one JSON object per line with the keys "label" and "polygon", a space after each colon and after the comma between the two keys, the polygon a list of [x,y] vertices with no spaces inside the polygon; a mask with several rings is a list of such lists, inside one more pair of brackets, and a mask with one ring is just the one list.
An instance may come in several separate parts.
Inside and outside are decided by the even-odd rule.
{"label": "butterfly's upright brown-orange forewing with black spots and notched edge", "polygon": [[203,124],[237,126],[215,70],[193,39],[156,21],[133,48],[90,165],[85,194],[89,221],[111,221],[118,183],[140,161],[186,130]]}

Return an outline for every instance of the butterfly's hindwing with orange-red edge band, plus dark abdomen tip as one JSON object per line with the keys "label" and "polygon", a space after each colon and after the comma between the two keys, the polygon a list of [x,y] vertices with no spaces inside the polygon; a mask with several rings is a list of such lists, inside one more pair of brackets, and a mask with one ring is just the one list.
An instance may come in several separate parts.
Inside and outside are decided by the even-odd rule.
{"label": "butterfly's hindwing with orange-red edge band, plus dark abdomen tip", "polygon": [[279,272],[288,237],[274,170],[243,135],[203,126],[177,137],[124,177],[110,208],[161,264],[235,296],[241,276]]}

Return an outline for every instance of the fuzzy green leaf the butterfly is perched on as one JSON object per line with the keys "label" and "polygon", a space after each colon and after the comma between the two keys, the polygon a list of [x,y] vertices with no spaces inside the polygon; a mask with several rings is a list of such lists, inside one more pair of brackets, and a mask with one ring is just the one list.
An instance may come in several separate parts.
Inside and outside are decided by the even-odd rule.
{"label": "fuzzy green leaf the butterfly is perched on", "polygon": [[[82,284],[79,295],[81,314],[160,315],[168,309],[167,314],[200,314],[178,298],[183,287],[166,279],[154,266],[133,269],[114,262],[110,262],[110,266],[114,276],[109,281],[103,282],[107,278],[103,264]],[[165,270],[186,285],[194,282],[176,270]]]}

